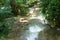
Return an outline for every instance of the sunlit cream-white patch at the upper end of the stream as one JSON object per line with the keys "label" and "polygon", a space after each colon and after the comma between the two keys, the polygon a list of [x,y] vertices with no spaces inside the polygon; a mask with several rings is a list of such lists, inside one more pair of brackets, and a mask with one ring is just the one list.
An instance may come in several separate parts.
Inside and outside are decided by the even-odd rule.
{"label": "sunlit cream-white patch at the upper end of the stream", "polygon": [[29,18],[29,20],[31,20],[31,19],[39,19],[42,24],[47,24],[48,23],[48,21],[45,19],[45,16],[41,12],[37,13],[38,15],[36,15],[34,13],[34,11],[39,10],[39,8],[29,8],[29,10],[30,10],[29,13],[31,14],[31,17]]}

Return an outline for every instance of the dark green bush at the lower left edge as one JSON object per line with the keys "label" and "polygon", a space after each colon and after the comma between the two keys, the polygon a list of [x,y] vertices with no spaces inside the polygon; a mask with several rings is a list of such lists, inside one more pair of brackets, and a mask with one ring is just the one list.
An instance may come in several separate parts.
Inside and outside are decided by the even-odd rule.
{"label": "dark green bush at the lower left edge", "polygon": [[8,25],[6,24],[6,22],[2,22],[0,25],[0,38],[3,37],[8,37],[8,34],[10,32],[10,29],[8,27]]}

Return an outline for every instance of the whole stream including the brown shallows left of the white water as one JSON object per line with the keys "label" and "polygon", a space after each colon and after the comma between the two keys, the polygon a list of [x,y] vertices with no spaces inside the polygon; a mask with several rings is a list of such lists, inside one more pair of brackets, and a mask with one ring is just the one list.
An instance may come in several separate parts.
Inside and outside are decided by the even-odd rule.
{"label": "whole stream including the brown shallows left of the white water", "polygon": [[[60,40],[60,29],[51,28],[48,24],[48,21],[39,11],[39,8],[29,8],[30,16],[24,20],[18,18],[18,22],[14,21],[12,25],[12,31],[9,34],[9,38],[6,40]],[[27,25],[22,25],[20,22],[25,22]],[[3,37],[2,37],[3,38]],[[5,39],[2,39],[5,40]]]}

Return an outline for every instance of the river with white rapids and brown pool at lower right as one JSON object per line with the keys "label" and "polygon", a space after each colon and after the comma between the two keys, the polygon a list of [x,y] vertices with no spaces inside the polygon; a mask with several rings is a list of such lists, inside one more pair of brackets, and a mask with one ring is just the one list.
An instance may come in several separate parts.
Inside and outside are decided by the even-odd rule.
{"label": "river with white rapids and brown pool at lower right", "polygon": [[20,40],[60,40],[60,30],[46,25],[48,21],[40,11],[36,11],[35,8],[29,9],[32,17],[26,30],[23,30],[23,33],[21,33]]}

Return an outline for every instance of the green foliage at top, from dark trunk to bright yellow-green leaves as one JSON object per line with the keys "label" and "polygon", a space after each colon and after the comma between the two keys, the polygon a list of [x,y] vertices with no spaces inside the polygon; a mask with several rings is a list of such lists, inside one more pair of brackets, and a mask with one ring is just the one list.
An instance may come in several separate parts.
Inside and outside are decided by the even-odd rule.
{"label": "green foliage at top, from dark trunk to bright yellow-green leaves", "polygon": [[[25,16],[29,12],[29,5],[32,5],[31,3],[33,2],[35,2],[35,0],[10,0],[10,5],[16,15]],[[32,6],[34,6],[34,4]]]}

